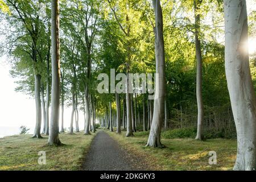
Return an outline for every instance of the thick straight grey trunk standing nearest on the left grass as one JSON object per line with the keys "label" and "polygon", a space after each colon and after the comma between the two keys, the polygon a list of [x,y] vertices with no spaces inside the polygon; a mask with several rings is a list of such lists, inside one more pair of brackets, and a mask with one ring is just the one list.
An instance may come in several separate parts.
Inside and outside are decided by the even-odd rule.
{"label": "thick straight grey trunk standing nearest on the left grass", "polygon": [[59,0],[52,0],[52,106],[49,127],[49,145],[58,146],[59,139],[59,113],[60,113],[60,39],[59,39]]}

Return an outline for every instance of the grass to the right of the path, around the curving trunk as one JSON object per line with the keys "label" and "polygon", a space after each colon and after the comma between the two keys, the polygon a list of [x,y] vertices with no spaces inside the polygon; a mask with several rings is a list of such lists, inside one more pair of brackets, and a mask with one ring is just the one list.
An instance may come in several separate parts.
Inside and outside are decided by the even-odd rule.
{"label": "grass to the right of the path, around the curving trunk", "polygon": [[[111,137],[134,155],[145,160],[145,165],[154,170],[231,170],[236,161],[236,139],[207,139],[199,141],[191,138],[162,139],[166,148],[145,147],[148,132],[134,133],[125,137],[125,132]],[[210,165],[209,151],[217,152],[217,164]]]}

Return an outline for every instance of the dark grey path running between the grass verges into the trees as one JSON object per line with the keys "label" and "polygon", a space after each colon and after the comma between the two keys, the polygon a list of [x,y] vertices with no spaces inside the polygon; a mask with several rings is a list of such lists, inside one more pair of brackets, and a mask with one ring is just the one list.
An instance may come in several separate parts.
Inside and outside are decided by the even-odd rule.
{"label": "dark grey path running between the grass verges into the trees", "polygon": [[86,171],[142,170],[133,167],[130,161],[127,152],[122,150],[108,134],[100,131],[93,139],[83,169]]}

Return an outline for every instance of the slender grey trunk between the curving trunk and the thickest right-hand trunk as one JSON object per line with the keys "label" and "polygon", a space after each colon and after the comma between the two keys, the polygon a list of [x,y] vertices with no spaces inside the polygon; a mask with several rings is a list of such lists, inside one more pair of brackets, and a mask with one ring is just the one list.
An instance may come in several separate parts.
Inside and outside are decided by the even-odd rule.
{"label": "slender grey trunk between the curving trunk and the thickest right-hand trunk", "polygon": [[199,40],[200,7],[201,0],[194,0],[195,9],[195,44],[196,44],[196,100],[197,100],[197,134],[196,139],[201,140],[203,134],[204,106],[202,96],[202,53]]}

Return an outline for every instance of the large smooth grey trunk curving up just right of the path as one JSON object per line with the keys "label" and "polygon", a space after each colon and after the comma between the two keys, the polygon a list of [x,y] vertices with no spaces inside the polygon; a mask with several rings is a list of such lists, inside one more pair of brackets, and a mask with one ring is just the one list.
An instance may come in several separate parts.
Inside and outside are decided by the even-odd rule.
{"label": "large smooth grey trunk curving up just right of the path", "polygon": [[152,0],[155,11],[155,60],[156,78],[154,115],[147,146],[163,147],[160,142],[161,130],[164,121],[164,97],[166,94],[166,63],[164,57],[163,14],[160,0]]}

